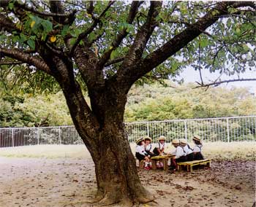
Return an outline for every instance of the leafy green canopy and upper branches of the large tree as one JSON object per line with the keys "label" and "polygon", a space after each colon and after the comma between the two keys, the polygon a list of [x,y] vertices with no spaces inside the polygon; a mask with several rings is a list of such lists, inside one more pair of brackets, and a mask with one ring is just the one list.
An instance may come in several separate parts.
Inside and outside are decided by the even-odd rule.
{"label": "leafy green canopy and upper branches of the large tree", "polygon": [[[102,65],[105,79],[118,74],[120,67],[126,64],[124,58],[132,59],[132,52],[140,53],[137,59],[145,68],[136,77],[143,77],[137,83],[175,79],[178,71],[189,65],[196,70],[204,68],[220,74],[255,69],[253,2],[165,1],[151,3],[151,6],[143,1],[132,4],[123,1],[49,2],[1,1],[1,79],[7,74],[15,75],[18,80],[29,75],[42,89],[56,87],[53,79],[35,73],[37,68],[51,74],[39,54],[50,50],[60,57],[75,58],[78,45],[91,48],[92,66],[97,59],[101,60],[97,64]],[[61,14],[55,13],[58,8]],[[212,22],[206,24],[209,17]],[[213,22],[216,23],[211,26]],[[182,46],[175,46],[183,36],[191,36],[191,39],[186,38]],[[166,55],[160,55],[165,52]],[[18,61],[10,68],[13,59]],[[28,63],[28,66],[17,66],[20,63]],[[75,77],[86,79],[78,63],[74,64]]]}

